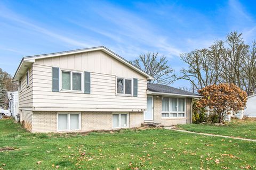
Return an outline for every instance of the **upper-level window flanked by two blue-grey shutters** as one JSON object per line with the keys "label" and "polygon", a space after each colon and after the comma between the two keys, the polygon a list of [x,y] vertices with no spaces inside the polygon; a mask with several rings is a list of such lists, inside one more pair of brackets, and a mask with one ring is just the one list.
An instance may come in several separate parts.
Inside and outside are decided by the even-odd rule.
{"label": "upper-level window flanked by two blue-grey shutters", "polygon": [[61,70],[61,90],[82,91],[83,73]]}

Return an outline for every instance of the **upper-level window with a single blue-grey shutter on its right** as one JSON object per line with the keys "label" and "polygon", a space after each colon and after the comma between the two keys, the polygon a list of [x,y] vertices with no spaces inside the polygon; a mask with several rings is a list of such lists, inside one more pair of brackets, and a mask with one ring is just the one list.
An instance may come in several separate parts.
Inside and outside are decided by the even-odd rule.
{"label": "upper-level window with a single blue-grey shutter on its right", "polygon": [[117,78],[116,83],[117,94],[132,95],[132,79]]}

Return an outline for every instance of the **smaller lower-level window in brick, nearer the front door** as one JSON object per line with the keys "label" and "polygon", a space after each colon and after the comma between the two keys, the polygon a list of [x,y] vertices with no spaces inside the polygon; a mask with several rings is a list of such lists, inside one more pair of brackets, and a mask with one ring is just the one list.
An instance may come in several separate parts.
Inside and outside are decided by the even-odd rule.
{"label": "smaller lower-level window in brick, nearer the front door", "polygon": [[112,124],[113,128],[129,128],[128,114],[113,114]]}

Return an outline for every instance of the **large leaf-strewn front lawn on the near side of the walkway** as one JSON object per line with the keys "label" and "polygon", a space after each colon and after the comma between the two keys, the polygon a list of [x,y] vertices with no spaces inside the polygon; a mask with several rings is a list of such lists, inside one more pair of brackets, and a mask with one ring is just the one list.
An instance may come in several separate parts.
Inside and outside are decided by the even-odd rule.
{"label": "large leaf-strewn front lawn on the near side of the walkway", "polygon": [[0,151],[0,169],[256,168],[256,142],[164,129],[31,134],[12,120],[0,129],[0,148],[15,148]]}

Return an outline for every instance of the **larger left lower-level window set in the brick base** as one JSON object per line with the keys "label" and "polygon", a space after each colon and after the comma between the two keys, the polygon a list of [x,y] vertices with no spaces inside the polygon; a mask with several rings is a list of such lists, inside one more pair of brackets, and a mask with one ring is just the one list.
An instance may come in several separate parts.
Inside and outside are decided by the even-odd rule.
{"label": "larger left lower-level window set in the brick base", "polygon": [[58,131],[74,131],[81,129],[80,113],[59,113]]}

